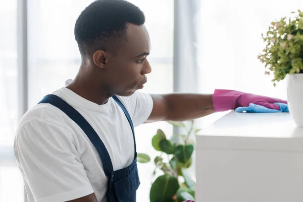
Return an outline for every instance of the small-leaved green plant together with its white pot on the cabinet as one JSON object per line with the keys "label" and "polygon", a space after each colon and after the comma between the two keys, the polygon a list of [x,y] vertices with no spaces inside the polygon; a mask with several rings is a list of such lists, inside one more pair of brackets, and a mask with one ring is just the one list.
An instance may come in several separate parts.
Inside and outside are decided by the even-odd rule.
{"label": "small-leaved green plant together with its white pot on the cabinet", "polygon": [[266,47],[258,55],[265,64],[265,74],[273,73],[273,83],[287,81],[287,103],[297,126],[303,127],[303,13],[291,12],[293,17],[272,22],[266,35]]}

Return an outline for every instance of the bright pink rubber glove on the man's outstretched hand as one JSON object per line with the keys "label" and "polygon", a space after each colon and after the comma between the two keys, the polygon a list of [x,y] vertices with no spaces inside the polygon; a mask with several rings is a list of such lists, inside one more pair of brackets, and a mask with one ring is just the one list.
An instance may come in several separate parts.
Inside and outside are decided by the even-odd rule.
{"label": "bright pink rubber glove on the man's outstretched hand", "polygon": [[285,103],[286,100],[240,92],[236,90],[216,89],[213,94],[215,112],[235,110],[238,107],[249,107],[249,104],[261,105],[269,109],[280,110],[274,103]]}

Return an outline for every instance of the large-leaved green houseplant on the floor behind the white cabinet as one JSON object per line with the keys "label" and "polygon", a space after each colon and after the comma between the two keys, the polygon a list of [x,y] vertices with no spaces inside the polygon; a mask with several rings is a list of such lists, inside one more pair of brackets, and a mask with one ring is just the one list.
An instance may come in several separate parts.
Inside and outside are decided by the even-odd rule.
{"label": "large-leaved green houseplant on the floor behind the white cabinet", "polygon": [[[189,137],[198,132],[194,129],[194,122],[190,121],[189,127],[184,122],[169,122],[186,131],[178,135],[178,141],[173,140],[176,135],[168,139],[165,133],[158,129],[151,140],[151,144],[159,155],[154,160],[155,171],[153,176],[159,176],[153,181],[150,188],[150,202],[173,202],[194,200],[195,182],[188,173],[192,163],[194,141]],[[187,124],[188,125],[188,124]],[[187,129],[188,128],[188,129]],[[138,154],[139,163],[150,162],[147,154]]]}

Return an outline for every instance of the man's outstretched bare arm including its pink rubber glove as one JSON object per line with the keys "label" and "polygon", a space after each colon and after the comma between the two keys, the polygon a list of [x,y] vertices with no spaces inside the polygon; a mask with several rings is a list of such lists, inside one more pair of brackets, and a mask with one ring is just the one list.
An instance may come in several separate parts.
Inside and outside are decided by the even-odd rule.
{"label": "man's outstretched bare arm including its pink rubber glove", "polygon": [[151,97],[154,106],[147,123],[196,119],[215,112],[248,107],[251,103],[279,110],[275,103],[287,103],[277,98],[221,89],[215,90],[214,94],[171,93],[151,94]]}

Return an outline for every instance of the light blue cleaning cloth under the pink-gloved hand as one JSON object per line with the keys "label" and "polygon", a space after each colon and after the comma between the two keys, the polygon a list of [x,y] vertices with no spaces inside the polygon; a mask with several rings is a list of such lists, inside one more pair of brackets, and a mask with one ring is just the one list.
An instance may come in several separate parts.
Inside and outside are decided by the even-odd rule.
{"label": "light blue cleaning cloth under the pink-gloved hand", "polygon": [[238,107],[235,112],[249,112],[249,113],[272,113],[272,112],[289,112],[288,105],[284,103],[274,103],[280,107],[280,110],[273,110],[261,105],[250,103],[249,107]]}

